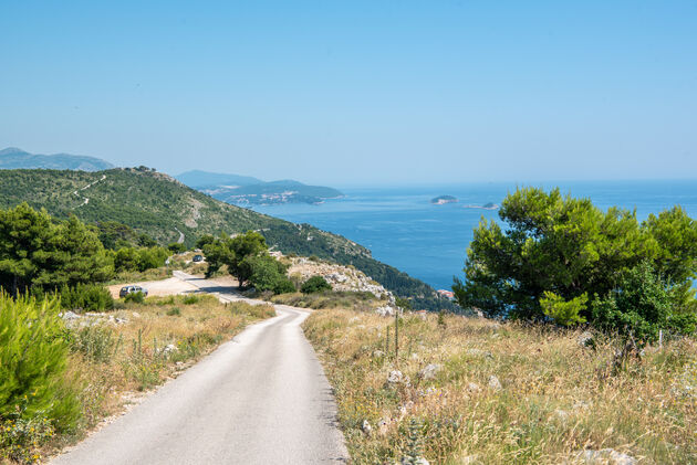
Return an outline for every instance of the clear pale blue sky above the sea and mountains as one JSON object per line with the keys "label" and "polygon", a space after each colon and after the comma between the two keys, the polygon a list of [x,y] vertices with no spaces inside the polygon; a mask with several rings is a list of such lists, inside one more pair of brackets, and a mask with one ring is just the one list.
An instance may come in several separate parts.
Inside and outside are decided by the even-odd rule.
{"label": "clear pale blue sky above the sea and mountains", "polygon": [[697,172],[695,1],[0,0],[0,148],[329,184]]}

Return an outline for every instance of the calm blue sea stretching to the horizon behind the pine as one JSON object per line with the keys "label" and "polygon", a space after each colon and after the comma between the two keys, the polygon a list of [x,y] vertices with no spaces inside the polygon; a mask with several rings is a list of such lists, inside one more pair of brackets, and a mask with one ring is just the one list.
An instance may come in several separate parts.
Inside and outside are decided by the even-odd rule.
{"label": "calm blue sea stretching to the horizon behind the pine", "polygon": [[[523,186],[523,184],[521,184]],[[697,181],[593,181],[539,182],[524,186],[590,198],[606,210],[617,205],[636,209],[639,220],[680,204],[697,219]],[[464,260],[472,230],[483,216],[498,220],[498,211],[467,209],[466,204],[500,204],[516,183],[468,183],[409,188],[342,189],[342,199],[319,205],[254,207],[256,211],[295,223],[310,223],[341,234],[435,288],[447,289],[452,277],[462,276]],[[430,199],[454,195],[459,201],[434,205]]]}

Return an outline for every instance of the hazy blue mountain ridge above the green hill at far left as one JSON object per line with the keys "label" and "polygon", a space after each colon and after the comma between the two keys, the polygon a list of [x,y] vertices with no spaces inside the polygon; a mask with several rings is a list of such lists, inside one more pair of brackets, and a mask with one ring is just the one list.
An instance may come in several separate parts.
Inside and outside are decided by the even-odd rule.
{"label": "hazy blue mountain ridge above the green hill at far left", "polygon": [[0,169],[70,169],[100,171],[114,168],[108,161],[81,155],[37,155],[9,147],[0,150]]}

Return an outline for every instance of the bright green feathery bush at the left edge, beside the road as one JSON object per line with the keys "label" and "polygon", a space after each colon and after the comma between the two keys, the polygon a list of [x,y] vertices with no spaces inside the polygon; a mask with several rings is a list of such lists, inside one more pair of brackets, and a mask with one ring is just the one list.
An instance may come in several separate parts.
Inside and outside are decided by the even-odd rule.
{"label": "bright green feathery bush at the left edge, beside the road", "polygon": [[72,429],[81,410],[65,381],[70,345],[58,298],[41,304],[0,293],[0,420],[45,415],[58,430]]}

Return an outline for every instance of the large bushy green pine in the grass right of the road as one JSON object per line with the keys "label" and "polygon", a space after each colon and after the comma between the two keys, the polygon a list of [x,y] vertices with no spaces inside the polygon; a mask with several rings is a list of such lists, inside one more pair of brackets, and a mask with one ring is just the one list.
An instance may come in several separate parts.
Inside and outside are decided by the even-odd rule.
{"label": "large bushy green pine in the grass right of the road", "polygon": [[[481,220],[467,251],[466,279],[452,286],[464,308],[477,307],[488,316],[562,324],[587,319],[605,328],[628,328],[618,311],[635,321],[648,318],[655,328],[678,319],[689,327],[691,317],[685,315],[695,314],[697,224],[679,207],[639,224],[633,211],[603,212],[589,199],[562,197],[559,189],[547,193],[528,188],[507,195],[499,216],[506,230]],[[633,294],[623,286],[662,288],[670,305],[655,300],[652,308],[660,317],[634,318],[627,300]],[[638,314],[644,311],[651,314],[648,307]]]}

